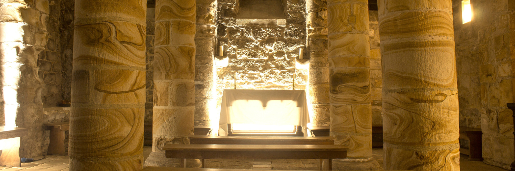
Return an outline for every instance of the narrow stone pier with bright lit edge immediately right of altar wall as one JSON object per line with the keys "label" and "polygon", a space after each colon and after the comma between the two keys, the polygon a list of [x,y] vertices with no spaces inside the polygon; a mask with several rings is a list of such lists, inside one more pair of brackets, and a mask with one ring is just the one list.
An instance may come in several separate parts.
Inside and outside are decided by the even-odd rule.
{"label": "narrow stone pier with bright lit edge immediately right of altar wall", "polygon": [[307,52],[310,54],[309,92],[314,113],[313,126],[329,126],[329,63],[327,40],[327,2],[306,1]]}

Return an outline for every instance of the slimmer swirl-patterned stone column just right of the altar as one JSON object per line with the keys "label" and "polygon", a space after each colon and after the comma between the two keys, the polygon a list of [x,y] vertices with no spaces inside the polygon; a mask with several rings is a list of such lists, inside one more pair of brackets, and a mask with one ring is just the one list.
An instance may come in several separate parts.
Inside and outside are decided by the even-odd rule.
{"label": "slimmer swirl-patterned stone column just right of the altar", "polygon": [[371,159],[368,1],[329,0],[330,134],[348,157]]}

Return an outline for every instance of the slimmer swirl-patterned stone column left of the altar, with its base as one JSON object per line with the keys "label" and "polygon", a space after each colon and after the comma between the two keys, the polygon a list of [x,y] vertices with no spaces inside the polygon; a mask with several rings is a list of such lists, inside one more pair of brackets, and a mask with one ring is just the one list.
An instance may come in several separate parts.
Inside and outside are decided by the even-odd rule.
{"label": "slimmer swirl-patterned stone column left of the altar, with its base", "polygon": [[167,143],[189,144],[195,116],[195,0],[157,0],[152,153],[146,166],[178,166]]}

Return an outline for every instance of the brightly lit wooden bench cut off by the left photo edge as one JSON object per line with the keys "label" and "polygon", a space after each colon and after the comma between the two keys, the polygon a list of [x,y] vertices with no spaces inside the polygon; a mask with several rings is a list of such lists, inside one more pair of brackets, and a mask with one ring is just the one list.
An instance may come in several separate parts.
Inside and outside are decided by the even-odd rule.
{"label": "brightly lit wooden bench cut off by the left photo edge", "polygon": [[[0,140],[7,140],[8,142],[3,143],[11,143],[10,147],[2,149],[2,155],[0,155],[0,165],[12,165],[14,167],[21,167],[20,163],[20,137],[26,136],[28,134],[28,128],[6,128],[5,126],[0,126]],[[5,144],[4,144],[5,145]]]}

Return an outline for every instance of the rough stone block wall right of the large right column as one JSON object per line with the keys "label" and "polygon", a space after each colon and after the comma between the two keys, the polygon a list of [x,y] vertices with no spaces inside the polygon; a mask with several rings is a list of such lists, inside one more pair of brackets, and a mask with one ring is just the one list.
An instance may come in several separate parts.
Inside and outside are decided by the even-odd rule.
{"label": "rough stone block wall right of the large right column", "polygon": [[506,103],[513,103],[514,8],[507,0],[471,3],[474,17],[462,24],[461,1],[453,1],[460,126],[480,127],[485,163],[509,169],[513,120]]}

